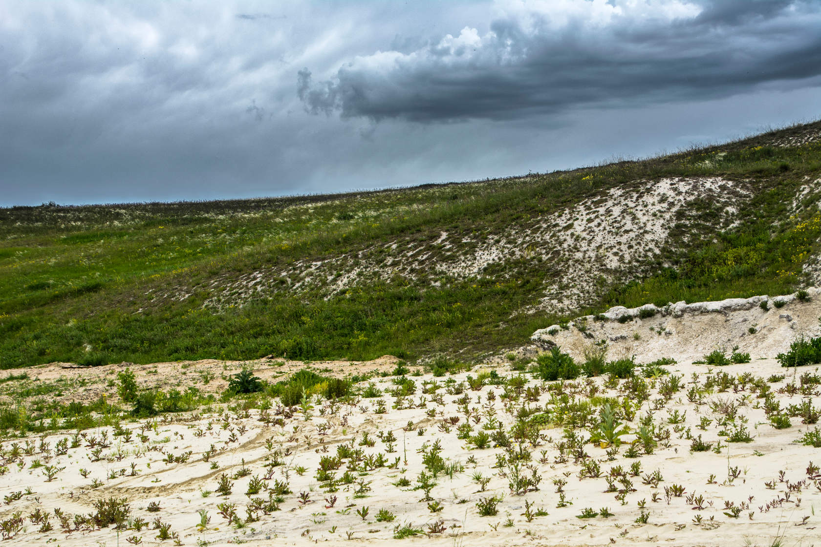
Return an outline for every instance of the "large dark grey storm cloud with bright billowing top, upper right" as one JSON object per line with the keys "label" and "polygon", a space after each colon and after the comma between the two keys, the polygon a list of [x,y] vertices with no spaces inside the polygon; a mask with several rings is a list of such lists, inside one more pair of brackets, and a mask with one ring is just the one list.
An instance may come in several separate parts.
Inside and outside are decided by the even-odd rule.
{"label": "large dark grey storm cloud with bright billowing top, upper right", "polygon": [[511,120],[821,74],[821,2],[513,2],[488,27],[355,57],[326,80],[305,68],[298,97],[343,118]]}

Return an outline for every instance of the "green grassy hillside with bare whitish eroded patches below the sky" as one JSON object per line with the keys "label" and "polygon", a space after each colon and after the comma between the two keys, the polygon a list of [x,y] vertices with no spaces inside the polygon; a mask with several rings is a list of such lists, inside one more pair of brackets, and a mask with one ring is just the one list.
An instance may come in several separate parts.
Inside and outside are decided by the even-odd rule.
{"label": "green grassy hillside with bare whitish eroded patches below the sky", "polygon": [[616,304],[819,276],[821,122],[635,162],[250,200],[0,209],[0,368],[462,359]]}

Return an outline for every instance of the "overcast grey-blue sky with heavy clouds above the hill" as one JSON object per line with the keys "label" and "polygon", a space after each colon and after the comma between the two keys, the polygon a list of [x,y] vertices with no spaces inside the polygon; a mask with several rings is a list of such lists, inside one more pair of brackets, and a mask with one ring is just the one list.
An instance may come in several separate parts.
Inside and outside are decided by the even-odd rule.
{"label": "overcast grey-blue sky with heavy clouds above the hill", "polygon": [[818,0],[0,0],[0,206],[644,157],[821,117]]}

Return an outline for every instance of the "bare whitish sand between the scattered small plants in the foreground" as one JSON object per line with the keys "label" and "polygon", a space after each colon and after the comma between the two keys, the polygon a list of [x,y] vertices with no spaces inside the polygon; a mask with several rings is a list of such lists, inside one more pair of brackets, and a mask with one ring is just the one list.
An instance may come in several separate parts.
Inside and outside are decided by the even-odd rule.
{"label": "bare whitish sand between the scattered small plants in the foreground", "polygon": [[[177,367],[167,364],[165,367]],[[688,401],[686,393],[690,389],[693,374],[698,376],[699,385],[703,386],[708,374],[718,373],[736,376],[749,372],[754,376],[767,378],[774,373],[788,373],[784,381],[770,384],[773,391],[792,382],[800,383],[798,376],[805,372],[818,374],[815,367],[805,367],[799,370],[798,376],[792,371],[786,371],[778,366],[773,359],[756,360],[745,365],[732,365],[721,370],[709,371],[703,365],[689,363],[670,367],[677,375],[683,375],[681,390],[672,396],[672,399],[663,407],[654,412],[657,424],[667,422],[668,413],[677,410],[686,412],[686,422],[683,426],[689,428],[692,435],[702,435],[705,441],[718,440],[716,418],[719,413],[710,410],[710,402],[735,401],[741,406],[738,415],[747,420],[746,427],[754,436],[750,443],[732,443],[729,449],[723,448],[720,454],[712,451],[690,454],[690,440],[679,438],[683,433],[672,431],[674,425],[665,424],[663,428],[671,429],[668,443],[662,442],[654,454],[642,455],[640,458],[625,458],[626,445],[614,461],[608,461],[605,450],[598,445],[586,444],[585,452],[599,462],[602,470],[600,478],[578,478],[580,465],[573,463],[570,458],[567,463],[556,463],[558,456],[555,444],[541,443],[532,448],[534,464],[538,474],[542,477],[540,490],[526,495],[511,495],[507,478],[499,476],[499,469],[492,468],[496,463],[497,454],[502,449],[469,449],[464,440],[456,438],[456,427],[451,431],[440,430],[444,417],[460,417],[459,424],[465,422],[464,413],[460,410],[456,399],[463,394],[443,394],[443,405],[433,403],[430,395],[424,395],[425,405],[420,406],[422,382],[433,380],[432,376],[410,378],[416,382],[416,393],[407,399],[412,401],[415,408],[397,410],[391,408],[395,399],[390,395],[383,395],[382,399],[388,407],[387,413],[374,413],[377,399],[362,399],[358,405],[348,405],[337,408],[332,412],[330,403],[324,401],[314,408],[313,417],[307,421],[300,413],[285,418],[284,426],[266,425],[259,421],[259,410],[251,410],[247,417],[238,417],[241,410],[227,410],[220,415],[216,408],[202,414],[172,415],[154,421],[124,422],[123,426],[133,431],[131,442],[124,442],[122,438],[114,438],[112,429],[84,431],[85,439],[77,448],[68,449],[67,454],[54,456],[53,449],[58,440],[71,435],[48,435],[46,441],[52,449],[51,456],[39,454],[39,450],[31,455],[21,455],[15,462],[7,463],[8,471],[0,477],[2,495],[12,492],[25,492],[30,488],[30,495],[0,508],[0,518],[7,519],[13,513],[21,512],[27,517],[36,508],[53,513],[54,508],[62,508],[64,513],[90,513],[91,504],[96,499],[110,496],[127,497],[131,504],[131,517],[140,516],[152,522],[160,517],[162,522],[171,524],[171,531],[176,532],[182,545],[197,545],[198,541],[209,542],[209,545],[227,545],[247,541],[256,545],[306,545],[319,543],[337,545],[345,543],[351,545],[347,539],[351,534],[354,544],[366,541],[368,543],[390,543],[393,539],[394,526],[412,523],[413,526],[428,530],[428,526],[438,519],[443,520],[447,530],[439,534],[432,534],[429,538],[417,536],[417,539],[403,541],[419,543],[424,541],[433,545],[608,545],[616,543],[633,545],[635,543],[647,545],[771,545],[778,536],[784,536],[784,545],[818,545],[821,543],[821,534],[816,527],[819,518],[815,513],[821,511],[821,482],[807,476],[806,468],[810,461],[821,464],[821,450],[810,446],[796,444],[794,441],[814,426],[806,426],[800,418],[791,418],[792,426],[776,430],[764,418],[762,407],[764,399],[750,394],[749,385],[746,390],[734,392],[732,389],[720,393],[717,390],[712,394],[704,395],[704,404],[696,405]],[[505,373],[504,371],[499,371]],[[476,376],[477,371],[462,373],[453,376],[457,382],[466,379],[470,374]],[[509,374],[509,372],[508,372]],[[528,375],[530,377],[530,375]],[[380,388],[391,387],[392,378],[378,380]],[[435,379],[440,384],[447,378]],[[561,393],[572,394],[580,390],[589,390],[590,385],[603,385],[603,378],[580,380],[568,383],[562,387]],[[530,385],[541,382],[530,380]],[[652,390],[648,402],[636,414],[634,422],[628,426],[635,429],[638,419],[646,410],[659,399],[658,383]],[[821,405],[819,385],[810,388],[810,401]],[[488,403],[487,394],[493,391],[497,395],[493,403]],[[444,393],[444,390],[439,390]],[[493,408],[495,416],[510,426],[513,418],[506,413],[504,402],[498,395],[502,394],[502,387],[485,385],[481,390],[467,389],[470,398],[469,407],[476,409],[481,420],[475,427],[474,434],[488,421],[488,412]],[[599,391],[601,394],[601,391]],[[617,392],[611,390],[611,395]],[[526,403],[531,406],[544,407],[551,394],[542,394],[538,401]],[[802,400],[800,394],[776,394],[782,408],[788,404],[797,404]],[[806,399],[806,398],[805,398]],[[515,403],[511,410],[515,413],[524,401]],[[274,402],[275,403],[275,402]],[[274,409],[268,411],[271,417],[275,416]],[[435,411],[435,417],[429,417],[427,412]],[[323,415],[320,415],[323,413]],[[242,414],[241,414],[242,416]],[[706,431],[696,426],[702,417],[713,420]],[[740,418],[736,418],[739,420]],[[227,420],[227,421],[226,421]],[[414,431],[405,431],[408,422],[415,424]],[[227,427],[227,429],[223,429]],[[320,431],[321,428],[324,431]],[[681,426],[678,426],[681,427]],[[419,431],[424,428],[424,433]],[[90,461],[92,449],[86,446],[92,437],[97,439],[108,431],[111,445],[103,449],[98,462]],[[145,442],[138,435],[144,432]],[[374,447],[360,446],[358,443],[364,432],[369,432],[371,439],[376,440]],[[378,431],[393,431],[397,437],[395,452],[386,454],[386,445],[376,438]],[[580,435],[587,435],[586,430],[577,430]],[[684,431],[684,430],[681,430]],[[562,439],[561,429],[544,430],[543,434],[558,441]],[[201,436],[198,436],[201,435]],[[236,435],[236,440],[231,436]],[[626,436],[632,440],[635,435]],[[266,448],[266,440],[271,441],[272,450]],[[363,480],[369,485],[367,497],[355,499],[354,485],[340,485],[337,502],[333,508],[323,499],[328,498],[318,482],[314,479],[319,458],[324,455],[337,454],[337,446],[355,440],[355,449],[364,449],[365,454],[383,453],[388,462],[400,458],[399,469],[387,467],[370,470],[366,474],[354,472],[356,481]],[[439,513],[431,513],[428,504],[419,500],[424,496],[421,490],[400,488],[392,483],[397,478],[406,476],[415,485],[418,474],[424,467],[421,454],[418,450],[423,444],[432,444],[440,440],[443,451],[441,455],[449,462],[461,462],[465,465],[464,472],[456,472],[453,478],[440,475],[431,496],[443,504]],[[39,444],[38,437],[15,440],[25,448],[26,441]],[[213,444],[216,454],[211,458],[218,463],[218,468],[212,469],[210,463],[202,461],[202,454]],[[2,443],[3,449],[8,451],[11,441]],[[525,444],[528,446],[528,444]],[[726,446],[722,440],[722,446]],[[249,497],[245,495],[252,476],[264,476],[268,469],[265,467],[266,458],[270,458],[274,450],[282,450],[283,465],[273,467],[271,481],[284,480],[287,475],[293,494],[285,495],[285,501],[279,511],[269,515],[259,513],[258,522],[249,522],[240,529],[227,526],[226,520],[219,516],[217,505],[223,502],[236,504],[237,513],[242,518],[247,516],[245,507]],[[540,463],[542,450],[544,463]],[[165,454],[180,454],[190,451],[187,463],[163,463]],[[117,452],[120,452],[117,455]],[[468,458],[475,458],[475,463],[468,463]],[[202,495],[203,490],[215,490],[218,476],[221,473],[232,475],[243,467],[250,470],[250,476],[233,480],[232,494],[222,497],[216,493],[208,497]],[[405,462],[406,459],[406,462]],[[31,468],[32,463],[39,460],[57,467],[65,467],[57,474],[52,482],[45,481],[44,467]],[[22,467],[17,462],[22,462]],[[641,476],[629,477],[635,488],[626,496],[626,504],[622,505],[614,498],[614,493],[605,493],[607,483],[604,475],[613,466],[621,466],[629,470],[631,463],[640,462],[641,475],[658,471],[663,476],[658,488],[642,483]],[[136,476],[130,476],[131,464],[135,464]],[[150,467],[149,467],[150,466]],[[297,467],[305,467],[306,472],[300,476]],[[740,475],[728,481],[728,468],[738,467]],[[80,475],[80,469],[87,470],[87,477]],[[122,470],[122,471],[121,471]],[[342,476],[346,465],[337,471],[337,478]],[[800,492],[793,492],[789,501],[782,501],[777,507],[766,509],[766,504],[773,499],[783,499],[787,491],[787,482],[779,481],[779,472],[783,471],[783,479],[795,484],[805,481]],[[122,473],[125,473],[124,476]],[[492,479],[487,485],[487,491],[478,492],[477,484],[471,481],[474,472],[481,472]],[[115,475],[115,478],[109,476]],[[715,475],[714,483],[708,484],[711,474]],[[559,495],[555,492],[554,479],[565,479],[566,499],[572,504],[557,508]],[[92,488],[93,480],[102,485]],[[774,490],[768,490],[765,482],[774,481]],[[686,494],[682,497],[672,497],[670,503],[664,499],[664,486],[673,484],[683,485]],[[302,506],[298,502],[300,492],[307,492],[309,503]],[[692,504],[686,503],[686,496],[691,493],[704,495],[705,507],[693,510]],[[659,500],[652,501],[657,494]],[[502,497],[498,504],[499,513],[492,517],[480,517],[477,514],[476,502],[492,495]],[[752,499],[750,500],[750,496]],[[254,497],[267,498],[264,491]],[[800,501],[799,501],[800,499]],[[460,503],[461,500],[466,500]],[[549,513],[547,516],[534,517],[527,522],[522,515],[525,510],[525,500],[536,507],[544,507]],[[636,523],[640,516],[638,502],[644,500],[649,511],[646,524]],[[149,502],[158,501],[161,510],[149,513],[146,507]],[[725,502],[733,504],[749,504],[744,508],[740,517],[727,517],[724,514]],[[709,505],[709,503],[711,505]],[[355,513],[362,506],[369,508],[365,520]],[[580,519],[579,515],[584,508],[608,507],[614,513],[608,518]],[[380,508],[386,508],[395,513],[394,522],[376,522],[375,516]],[[208,511],[211,522],[204,531],[195,526],[200,522],[197,513],[199,509]],[[750,516],[751,513],[751,516]],[[700,515],[701,522],[694,522],[696,515]],[[808,517],[801,525],[802,519]],[[506,526],[508,518],[511,526]],[[117,537],[113,526],[95,531],[73,531],[67,534],[60,530],[60,522],[53,514],[50,522],[53,531],[40,533],[39,526],[26,519],[25,531],[18,533],[7,545],[46,545],[55,542],[58,545],[126,545],[126,538],[137,536],[142,545],[173,545],[172,540],[161,542],[156,539],[158,531],[151,530],[152,526],[142,531],[122,531]],[[800,525],[800,526],[799,526]],[[268,540],[267,538],[271,538]],[[423,538],[423,539],[419,539]]]}

